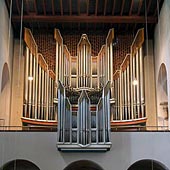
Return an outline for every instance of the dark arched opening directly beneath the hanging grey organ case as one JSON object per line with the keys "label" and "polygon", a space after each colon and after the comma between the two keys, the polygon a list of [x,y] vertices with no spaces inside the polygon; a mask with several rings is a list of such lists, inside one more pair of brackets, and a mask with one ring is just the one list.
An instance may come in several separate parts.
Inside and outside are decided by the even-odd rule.
{"label": "dark arched opening directly beneath the hanging grey organ case", "polygon": [[70,163],[64,170],[103,170],[103,168],[93,161],[79,160]]}

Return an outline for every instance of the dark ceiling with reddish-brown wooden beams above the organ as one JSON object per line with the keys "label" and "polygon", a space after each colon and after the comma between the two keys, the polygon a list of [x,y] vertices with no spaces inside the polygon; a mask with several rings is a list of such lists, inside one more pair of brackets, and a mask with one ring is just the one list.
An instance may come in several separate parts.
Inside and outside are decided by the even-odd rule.
{"label": "dark ceiling with reddish-brown wooden beams above the organ", "polygon": [[12,2],[12,24],[16,33],[23,21],[23,26],[32,29],[59,28],[70,33],[108,31],[111,27],[118,32],[135,32],[138,28],[147,26],[151,34],[163,4],[163,0],[5,1],[9,12]]}

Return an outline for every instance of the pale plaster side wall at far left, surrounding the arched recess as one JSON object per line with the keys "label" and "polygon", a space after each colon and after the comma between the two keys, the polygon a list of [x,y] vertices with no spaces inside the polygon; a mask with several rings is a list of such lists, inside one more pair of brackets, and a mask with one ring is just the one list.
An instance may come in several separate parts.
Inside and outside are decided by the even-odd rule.
{"label": "pale plaster side wall at far left, surrounding the arched recess", "polygon": [[5,119],[5,125],[9,125],[10,119],[10,96],[11,96],[11,79],[12,79],[12,53],[13,53],[13,33],[12,29],[9,34],[9,16],[6,9],[5,1],[0,0],[0,89],[2,81],[2,70],[5,63],[9,68],[9,84],[4,91],[0,91],[0,119]]}

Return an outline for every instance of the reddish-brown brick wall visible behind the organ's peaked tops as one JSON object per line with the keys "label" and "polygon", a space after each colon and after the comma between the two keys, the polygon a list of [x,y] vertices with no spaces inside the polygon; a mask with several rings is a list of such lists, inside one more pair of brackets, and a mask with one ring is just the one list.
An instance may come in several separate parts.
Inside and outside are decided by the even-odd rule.
{"label": "reddish-brown brick wall visible behind the organ's peaked tops", "polygon": [[[77,44],[80,40],[81,34],[64,34],[63,42],[67,45],[68,50],[72,56],[77,55]],[[38,51],[44,56],[49,68],[55,71],[55,40],[54,33],[51,31],[41,31],[34,33],[35,41],[38,45]],[[106,35],[88,35],[92,46],[92,56],[97,56],[103,44],[105,44]],[[120,64],[127,53],[130,53],[130,45],[133,41],[132,34],[118,34],[118,43],[113,47],[113,70],[119,69]]]}

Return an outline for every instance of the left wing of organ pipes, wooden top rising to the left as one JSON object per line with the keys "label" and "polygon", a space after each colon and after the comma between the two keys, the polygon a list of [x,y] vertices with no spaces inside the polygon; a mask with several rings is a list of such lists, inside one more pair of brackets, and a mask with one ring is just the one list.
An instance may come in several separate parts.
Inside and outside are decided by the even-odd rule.
{"label": "left wing of organ pipes, wooden top rising to the left", "polygon": [[54,100],[55,74],[48,69],[29,29],[25,28],[25,84],[23,123],[55,125],[57,123]]}

